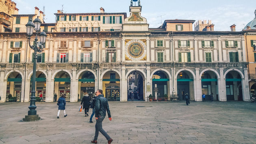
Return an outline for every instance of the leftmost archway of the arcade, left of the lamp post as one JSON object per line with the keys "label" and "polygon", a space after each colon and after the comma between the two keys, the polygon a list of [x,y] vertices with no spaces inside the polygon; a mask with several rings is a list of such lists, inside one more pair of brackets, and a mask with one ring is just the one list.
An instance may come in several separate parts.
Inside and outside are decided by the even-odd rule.
{"label": "leftmost archway of the arcade, left of the lamp post", "polygon": [[20,102],[22,93],[22,75],[18,72],[12,72],[7,78],[6,101],[9,98],[16,97]]}

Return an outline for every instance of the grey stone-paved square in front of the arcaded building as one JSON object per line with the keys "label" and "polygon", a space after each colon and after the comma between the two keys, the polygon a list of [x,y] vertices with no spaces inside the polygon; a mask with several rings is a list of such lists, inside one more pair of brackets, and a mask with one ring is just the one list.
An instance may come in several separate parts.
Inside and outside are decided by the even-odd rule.
{"label": "grey stone-paved square in front of the arcaded building", "polygon": [[[41,120],[22,122],[29,103],[0,103],[0,144],[91,143],[94,123],[80,103],[67,103],[57,119],[56,103],[37,102]],[[249,102],[110,102],[112,121],[103,128],[115,143],[256,143],[256,103]],[[91,114],[91,109],[89,111]],[[98,144],[107,143],[100,133]]]}

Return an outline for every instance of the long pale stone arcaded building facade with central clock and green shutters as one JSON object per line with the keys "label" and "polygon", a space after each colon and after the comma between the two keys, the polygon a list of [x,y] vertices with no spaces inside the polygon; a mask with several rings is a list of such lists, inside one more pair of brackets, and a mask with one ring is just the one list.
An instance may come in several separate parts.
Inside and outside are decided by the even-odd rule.
{"label": "long pale stone arcaded building facade with central clock and green shutters", "polygon": [[[113,16],[122,21],[114,31],[113,24],[103,28],[103,15],[109,21]],[[130,17],[123,13],[101,16],[97,32],[86,27],[85,31],[59,31],[62,24],[48,32],[37,61],[37,96],[42,93],[46,102],[52,102],[55,93],[65,93],[67,100],[75,102],[83,92],[93,95],[99,88],[109,100],[128,101],[133,75],[137,78],[133,92],[144,101],[150,94],[183,100],[185,93],[193,101],[202,101],[202,93],[213,93],[215,101],[249,101],[244,32],[196,32],[193,20],[177,19],[149,29],[141,6],[132,4]],[[29,101],[32,58],[25,33],[0,34],[1,102],[9,94]]]}

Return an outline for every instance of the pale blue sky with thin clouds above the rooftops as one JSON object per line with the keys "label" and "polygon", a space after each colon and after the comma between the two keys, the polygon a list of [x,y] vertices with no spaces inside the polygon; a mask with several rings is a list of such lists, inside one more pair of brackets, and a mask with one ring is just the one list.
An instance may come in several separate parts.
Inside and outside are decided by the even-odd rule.
{"label": "pale blue sky with thin clouds above the rooftops", "polygon": [[[45,14],[47,23],[55,21],[54,13],[62,9],[64,13],[99,13],[100,7],[106,13],[126,12],[129,16],[130,0],[13,0],[20,9],[19,14],[32,14],[37,6]],[[161,26],[165,19],[211,19],[215,30],[230,31],[236,24],[236,30],[254,19],[255,0],[141,0],[141,15],[148,20],[150,28]]]}

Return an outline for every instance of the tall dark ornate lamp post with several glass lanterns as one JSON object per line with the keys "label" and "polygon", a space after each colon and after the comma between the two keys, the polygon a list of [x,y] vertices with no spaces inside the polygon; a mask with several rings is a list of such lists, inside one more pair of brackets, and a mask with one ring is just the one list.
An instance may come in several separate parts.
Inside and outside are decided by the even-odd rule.
{"label": "tall dark ornate lamp post with several glass lanterns", "polygon": [[[33,23],[34,22],[34,23]],[[42,52],[43,47],[39,46],[38,47],[38,39],[37,39],[37,34],[39,33],[40,26],[41,26],[41,20],[37,17],[34,21],[30,19],[28,23],[26,24],[27,28],[27,36],[28,36],[28,44],[31,49],[34,49],[34,63],[33,63],[33,79],[32,79],[32,91],[31,91],[31,99],[30,99],[30,106],[28,115],[23,118],[23,121],[35,121],[35,120],[40,120],[40,117],[37,114],[37,111],[35,110],[37,106],[35,105],[35,83],[36,83],[36,69],[37,69],[37,52]],[[33,31],[36,31],[36,37],[34,40],[34,45],[30,45],[30,39],[31,36],[33,35]],[[41,32],[39,34],[40,36],[40,44],[44,45],[46,43],[46,32]]]}

